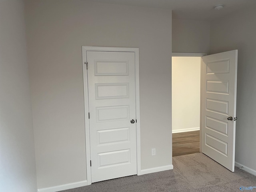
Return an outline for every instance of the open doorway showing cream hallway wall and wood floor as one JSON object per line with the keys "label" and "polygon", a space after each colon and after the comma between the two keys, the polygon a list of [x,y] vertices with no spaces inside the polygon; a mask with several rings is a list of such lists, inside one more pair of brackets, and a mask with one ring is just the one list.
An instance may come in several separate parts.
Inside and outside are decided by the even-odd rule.
{"label": "open doorway showing cream hallway wall and wood floor", "polygon": [[172,55],[172,156],[200,152],[201,55]]}

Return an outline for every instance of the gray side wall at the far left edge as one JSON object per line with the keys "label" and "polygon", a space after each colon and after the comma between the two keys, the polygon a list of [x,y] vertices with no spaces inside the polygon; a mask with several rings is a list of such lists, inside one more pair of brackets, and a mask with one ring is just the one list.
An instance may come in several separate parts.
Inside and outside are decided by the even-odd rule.
{"label": "gray side wall at the far left edge", "polygon": [[0,1],[0,191],[35,192],[24,4]]}

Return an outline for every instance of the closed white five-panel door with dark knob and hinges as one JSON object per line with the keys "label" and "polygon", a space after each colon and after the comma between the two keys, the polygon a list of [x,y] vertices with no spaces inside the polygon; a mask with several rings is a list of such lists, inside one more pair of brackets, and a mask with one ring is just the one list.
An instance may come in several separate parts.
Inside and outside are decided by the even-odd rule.
{"label": "closed white five-panel door with dark knob and hinges", "polygon": [[92,182],[137,174],[134,52],[86,57]]}

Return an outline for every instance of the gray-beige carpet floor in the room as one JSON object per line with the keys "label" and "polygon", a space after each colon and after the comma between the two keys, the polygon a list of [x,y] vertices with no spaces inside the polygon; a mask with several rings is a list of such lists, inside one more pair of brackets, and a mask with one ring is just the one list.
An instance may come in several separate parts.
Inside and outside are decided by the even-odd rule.
{"label": "gray-beige carpet floor in the room", "polygon": [[[239,192],[256,186],[256,176],[230,172],[202,153],[176,156],[173,170],[128,176],[62,192]],[[246,189],[245,189],[246,190]],[[256,192],[256,188],[252,188]]]}

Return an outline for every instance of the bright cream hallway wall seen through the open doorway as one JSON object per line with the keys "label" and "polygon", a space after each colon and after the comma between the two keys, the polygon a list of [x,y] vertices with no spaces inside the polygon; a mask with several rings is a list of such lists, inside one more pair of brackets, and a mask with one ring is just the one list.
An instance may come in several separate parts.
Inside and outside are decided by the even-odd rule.
{"label": "bright cream hallway wall seen through the open doorway", "polygon": [[200,128],[201,57],[172,57],[172,132]]}

